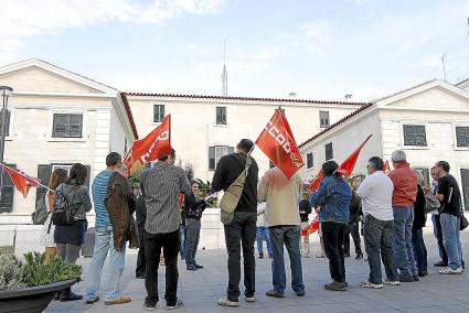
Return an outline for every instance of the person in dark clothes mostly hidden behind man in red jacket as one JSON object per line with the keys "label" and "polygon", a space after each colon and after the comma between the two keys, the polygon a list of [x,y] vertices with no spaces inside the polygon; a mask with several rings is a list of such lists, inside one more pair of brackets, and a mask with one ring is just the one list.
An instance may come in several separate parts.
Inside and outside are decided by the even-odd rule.
{"label": "person in dark clothes mostly hidden behind man in red jacket", "polygon": [[418,276],[426,277],[427,271],[427,247],[425,247],[424,231],[427,217],[425,215],[425,193],[422,187],[424,175],[414,170],[417,175],[417,198],[414,203],[414,224],[412,226],[412,247],[414,249],[415,261],[417,263]]}

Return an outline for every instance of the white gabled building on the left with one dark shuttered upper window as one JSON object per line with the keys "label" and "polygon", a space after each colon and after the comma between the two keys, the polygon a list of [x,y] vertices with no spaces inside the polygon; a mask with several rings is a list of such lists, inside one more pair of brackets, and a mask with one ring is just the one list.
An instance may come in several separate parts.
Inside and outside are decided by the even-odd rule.
{"label": "white gabled building on the left with one dark shuttered upper window", "polygon": [[[89,169],[93,181],[106,168],[110,151],[125,153],[137,138],[120,94],[78,74],[29,60],[0,67],[0,85],[13,88],[6,163],[39,176],[45,185],[54,169],[70,169],[77,162]],[[31,188],[23,198],[7,173],[3,182],[0,224],[31,223],[36,197],[44,188]]]}

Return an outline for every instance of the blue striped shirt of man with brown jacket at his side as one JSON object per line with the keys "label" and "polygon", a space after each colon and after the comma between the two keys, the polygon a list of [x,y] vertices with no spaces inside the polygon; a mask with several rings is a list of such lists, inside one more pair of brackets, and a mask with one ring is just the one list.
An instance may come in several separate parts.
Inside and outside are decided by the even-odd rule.
{"label": "blue striped shirt of man with brown jacket at his side", "polygon": [[95,204],[96,212],[95,227],[110,226],[109,214],[104,205],[104,198],[106,197],[107,183],[113,173],[110,170],[104,170],[93,181],[93,203]]}

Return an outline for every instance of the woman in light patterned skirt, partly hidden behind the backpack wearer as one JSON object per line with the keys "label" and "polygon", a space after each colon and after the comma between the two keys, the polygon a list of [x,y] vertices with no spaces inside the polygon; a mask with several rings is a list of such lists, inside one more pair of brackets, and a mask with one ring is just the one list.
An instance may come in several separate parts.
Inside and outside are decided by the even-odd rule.
{"label": "woman in light patterned skirt, partly hidden behind the backpack wearer", "polygon": [[45,247],[45,259],[49,260],[57,253],[57,247],[54,242],[55,226],[52,224],[52,212],[54,211],[54,191],[65,182],[67,179],[67,171],[64,169],[56,169],[49,181],[49,191],[44,195],[45,208],[49,212],[47,219],[42,228],[39,244]]}

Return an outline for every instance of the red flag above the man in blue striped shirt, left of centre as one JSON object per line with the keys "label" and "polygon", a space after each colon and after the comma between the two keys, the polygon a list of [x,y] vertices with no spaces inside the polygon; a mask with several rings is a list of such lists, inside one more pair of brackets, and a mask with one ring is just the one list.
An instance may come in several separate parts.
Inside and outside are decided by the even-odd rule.
{"label": "red flag above the man in blue striped shirt, left of centre", "polygon": [[145,163],[157,160],[171,151],[171,118],[164,120],[146,138],[134,142],[130,151],[124,159],[129,175],[145,166]]}

